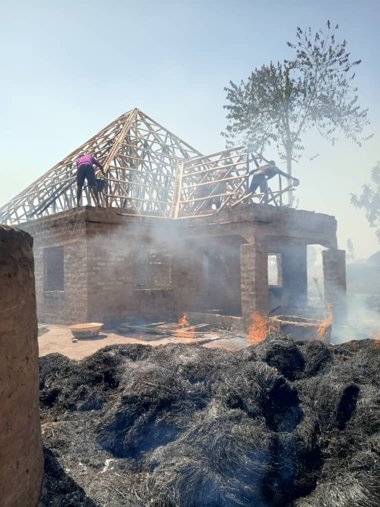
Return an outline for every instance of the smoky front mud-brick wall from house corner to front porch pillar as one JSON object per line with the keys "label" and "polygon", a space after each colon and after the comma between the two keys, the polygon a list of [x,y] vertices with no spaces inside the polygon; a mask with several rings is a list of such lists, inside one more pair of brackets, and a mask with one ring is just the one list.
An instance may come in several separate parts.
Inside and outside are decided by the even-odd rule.
{"label": "smoky front mud-brick wall from house corner to front porch pillar", "polygon": [[[178,319],[221,308],[241,314],[239,236],[188,238],[173,221],[91,210],[87,222],[89,320]],[[146,287],[144,249],[167,250],[170,286]],[[162,266],[165,275],[167,266]],[[160,266],[155,267],[159,272]]]}

